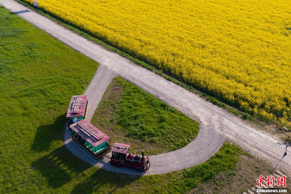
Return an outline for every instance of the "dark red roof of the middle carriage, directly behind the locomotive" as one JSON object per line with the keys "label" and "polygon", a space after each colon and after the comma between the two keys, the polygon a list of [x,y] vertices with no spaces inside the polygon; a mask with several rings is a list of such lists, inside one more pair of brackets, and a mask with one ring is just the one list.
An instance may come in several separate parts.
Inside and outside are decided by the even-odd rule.
{"label": "dark red roof of the middle carriage, directly behind the locomotive", "polygon": [[70,125],[70,128],[94,147],[110,140],[110,137],[84,119]]}

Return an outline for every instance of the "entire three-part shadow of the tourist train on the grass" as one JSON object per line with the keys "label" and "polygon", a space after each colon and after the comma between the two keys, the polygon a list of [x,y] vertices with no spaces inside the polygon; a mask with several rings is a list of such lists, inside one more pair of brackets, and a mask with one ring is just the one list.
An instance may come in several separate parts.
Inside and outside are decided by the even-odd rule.
{"label": "entire three-part shadow of the tourist train on the grass", "polygon": [[[48,151],[53,141],[63,140],[64,132],[65,114],[57,117],[52,124],[38,127],[31,150],[38,152]],[[100,159],[99,162],[102,163]],[[58,188],[73,178],[81,176],[84,171],[92,168],[92,165],[82,161],[63,145],[34,161],[31,167],[39,171],[47,179],[49,186]],[[96,170],[96,167],[93,168]],[[106,191],[109,189],[110,192],[113,192],[115,189],[129,185],[139,178],[140,176],[130,176],[97,169],[92,176],[76,185],[72,193],[92,193],[98,188],[104,189],[105,187]]]}

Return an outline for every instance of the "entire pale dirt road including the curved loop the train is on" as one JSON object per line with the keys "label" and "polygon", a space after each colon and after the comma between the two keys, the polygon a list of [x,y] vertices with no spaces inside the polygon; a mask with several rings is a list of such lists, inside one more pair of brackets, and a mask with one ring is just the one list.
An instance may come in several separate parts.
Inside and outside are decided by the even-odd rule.
{"label": "entire pale dirt road including the curved loop the train is on", "polygon": [[[202,163],[218,151],[225,139],[232,140],[244,150],[250,151],[252,155],[258,156],[274,166],[283,156],[285,148],[281,142],[267,133],[254,129],[237,116],[203,100],[197,94],[133,64],[120,55],[106,50],[13,0],[0,0],[0,5],[11,12],[18,12],[18,16],[100,63],[94,79],[86,90],[89,99],[91,98],[89,105],[91,110],[88,118],[94,114],[94,108],[100,102],[101,94],[104,93],[110,80],[115,75],[119,75],[199,122],[200,130],[197,138],[186,147],[150,156],[151,168],[145,173],[146,175],[166,173]],[[23,10],[29,12],[21,12]],[[131,169],[111,166],[107,158],[93,161],[70,141],[68,131],[65,133],[64,143],[75,155],[92,165],[110,171],[142,175],[142,173]],[[287,175],[291,175],[291,154],[285,156],[277,168],[281,168]]]}

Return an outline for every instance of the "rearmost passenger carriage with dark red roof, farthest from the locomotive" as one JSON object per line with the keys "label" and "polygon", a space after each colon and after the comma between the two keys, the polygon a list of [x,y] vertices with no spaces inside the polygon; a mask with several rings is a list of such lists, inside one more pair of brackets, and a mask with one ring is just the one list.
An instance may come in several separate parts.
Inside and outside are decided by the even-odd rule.
{"label": "rearmost passenger carriage with dark red roof, farthest from the locomotive", "polygon": [[86,119],[88,111],[88,97],[86,95],[72,96],[66,115],[68,128],[77,120]]}

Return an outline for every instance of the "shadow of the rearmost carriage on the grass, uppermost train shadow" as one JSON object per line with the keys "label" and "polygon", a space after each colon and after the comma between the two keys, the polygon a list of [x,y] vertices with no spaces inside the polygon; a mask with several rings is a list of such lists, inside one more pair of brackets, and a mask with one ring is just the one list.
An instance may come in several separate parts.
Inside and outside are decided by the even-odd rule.
{"label": "shadow of the rearmost carriage on the grass, uppermost train shadow", "polygon": [[31,150],[48,151],[52,141],[62,140],[64,137],[65,123],[66,115],[63,114],[58,116],[52,124],[40,125],[31,145]]}

